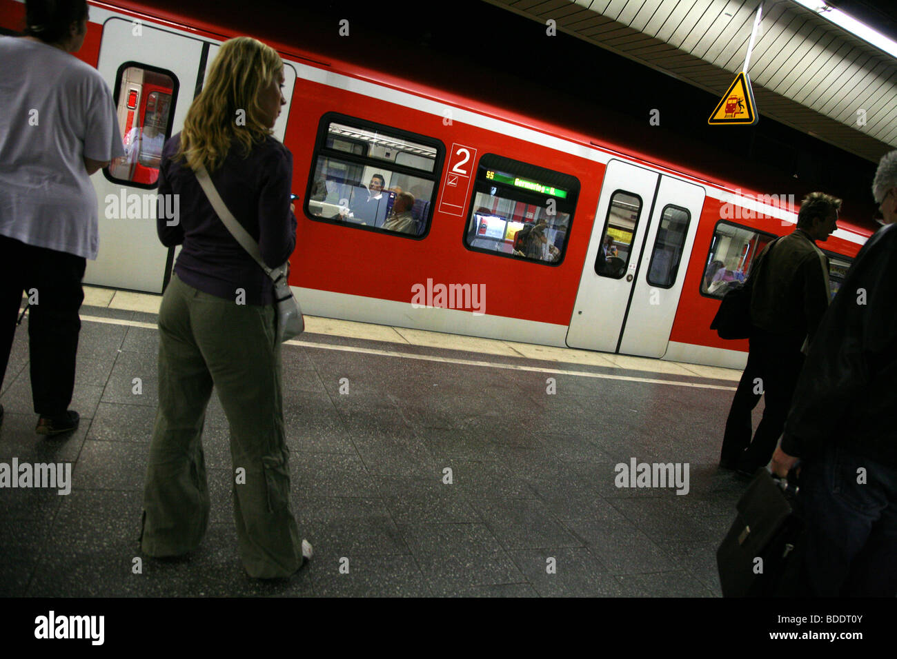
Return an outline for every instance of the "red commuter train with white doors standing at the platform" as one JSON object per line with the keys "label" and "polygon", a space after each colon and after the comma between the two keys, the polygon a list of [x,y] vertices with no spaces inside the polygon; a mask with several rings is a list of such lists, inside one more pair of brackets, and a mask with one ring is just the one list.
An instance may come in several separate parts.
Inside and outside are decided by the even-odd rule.
{"label": "red commuter train with white doors standing at the platform", "polygon": [[[161,143],[219,44],[239,35],[199,16],[90,5],[78,56],[109,82],[128,156],[93,177],[101,246],[85,282],[158,292],[175,256],[155,235]],[[0,0],[4,29],[23,16],[24,4]],[[274,132],[294,159],[291,284],[306,313],[744,366],[747,342],[720,340],[710,321],[762,247],[793,230],[788,191],[742,192],[596,135],[266,42],[284,62]],[[821,246],[833,292],[870,235],[839,227]]]}

